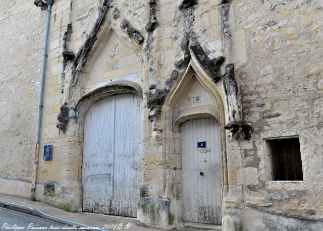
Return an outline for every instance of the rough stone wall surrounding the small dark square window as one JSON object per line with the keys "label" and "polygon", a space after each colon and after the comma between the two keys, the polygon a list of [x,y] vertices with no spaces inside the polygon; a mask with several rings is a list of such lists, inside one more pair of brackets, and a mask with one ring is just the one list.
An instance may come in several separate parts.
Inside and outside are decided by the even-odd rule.
{"label": "rough stone wall surrounding the small dark square window", "polygon": [[[237,74],[242,108],[254,129],[245,145],[237,182],[244,205],[322,218],[320,1],[233,1],[236,33],[243,44]],[[263,139],[299,135],[303,182],[271,182]],[[258,179],[252,178],[258,173]],[[246,179],[249,179],[246,182]],[[277,195],[274,196],[274,195]]]}

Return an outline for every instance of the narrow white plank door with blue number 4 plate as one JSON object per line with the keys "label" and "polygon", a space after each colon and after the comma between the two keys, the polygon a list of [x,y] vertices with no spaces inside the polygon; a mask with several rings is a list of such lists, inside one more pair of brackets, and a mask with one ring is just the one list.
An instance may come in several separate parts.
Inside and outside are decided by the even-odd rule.
{"label": "narrow white plank door with blue number 4 plate", "polygon": [[184,221],[221,224],[220,156],[217,120],[191,120],[182,125]]}

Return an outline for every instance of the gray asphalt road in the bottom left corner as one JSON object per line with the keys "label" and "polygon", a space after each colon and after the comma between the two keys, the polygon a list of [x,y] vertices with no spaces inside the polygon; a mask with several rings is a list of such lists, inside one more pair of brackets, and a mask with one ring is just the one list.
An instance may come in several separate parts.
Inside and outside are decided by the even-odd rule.
{"label": "gray asphalt road in the bottom left corner", "polygon": [[0,208],[0,230],[62,230],[64,226],[40,217]]}

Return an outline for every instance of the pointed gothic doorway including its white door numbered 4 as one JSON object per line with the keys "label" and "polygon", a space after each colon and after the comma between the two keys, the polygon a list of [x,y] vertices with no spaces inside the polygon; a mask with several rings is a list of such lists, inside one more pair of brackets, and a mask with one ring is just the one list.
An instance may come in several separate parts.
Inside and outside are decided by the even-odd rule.
{"label": "pointed gothic doorway including its white door numbered 4", "polygon": [[[221,83],[220,83],[221,84]],[[177,222],[222,224],[223,192],[227,190],[224,95],[191,60],[166,100],[174,137],[181,137],[182,206]],[[200,145],[200,146],[199,146]],[[169,155],[172,155],[169,153]],[[180,208],[179,208],[180,209]]]}

